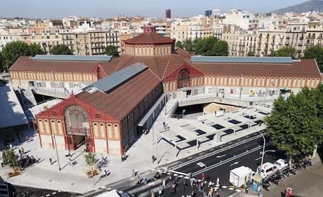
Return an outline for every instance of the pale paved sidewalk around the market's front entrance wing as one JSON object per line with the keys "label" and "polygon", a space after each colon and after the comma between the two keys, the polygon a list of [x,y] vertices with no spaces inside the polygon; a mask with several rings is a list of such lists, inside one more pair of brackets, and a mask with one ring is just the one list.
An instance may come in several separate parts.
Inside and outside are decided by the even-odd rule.
{"label": "pale paved sidewalk around the market's front entrance wing", "polygon": [[[169,111],[170,109],[171,107],[167,110]],[[77,151],[71,151],[71,154],[73,154],[72,159],[76,163],[74,166],[68,165],[69,160],[68,157],[65,156],[67,151],[58,150],[60,166],[62,168],[62,170],[59,171],[55,149],[41,149],[39,137],[34,135],[32,130],[29,131],[29,137],[32,139],[31,142],[18,144],[18,140],[16,140],[13,145],[17,148],[16,152],[18,152],[18,147],[23,147],[25,152],[29,151],[29,155],[38,156],[41,162],[27,168],[22,175],[11,177],[10,179],[5,176],[5,173],[9,171],[8,167],[0,168],[0,176],[7,182],[11,182],[11,184],[70,191],[73,193],[85,193],[86,191],[98,189],[100,186],[106,186],[108,184],[118,182],[121,179],[128,179],[128,177],[131,177],[132,169],[135,169],[138,173],[146,171],[151,172],[150,170],[157,168],[157,162],[155,161],[152,163],[152,154],[157,156],[159,165],[164,165],[180,158],[211,149],[212,147],[216,147],[228,142],[229,140],[235,140],[233,137],[229,136],[225,136],[223,138],[223,142],[220,143],[216,143],[211,140],[209,142],[202,143],[199,149],[197,149],[196,146],[184,149],[180,151],[176,157],[177,151],[175,151],[174,147],[168,142],[160,140],[158,147],[156,146],[157,131],[162,130],[163,121],[166,121],[166,123],[171,127],[178,124],[176,119],[168,118],[168,115],[169,114],[165,115],[163,109],[161,114],[158,116],[156,123],[154,123],[154,128],[152,128],[147,135],[141,136],[140,139],[138,139],[138,141],[126,152],[128,155],[126,161],[121,162],[120,156],[107,156],[109,162],[102,169],[110,170],[111,174],[107,177],[103,177],[102,179],[100,178],[100,175],[103,175],[104,171],[93,179],[86,177],[84,172],[86,163],[83,148],[79,148]],[[250,133],[253,133],[254,129],[255,128],[239,131],[235,138],[249,135]],[[101,159],[101,157],[101,154],[96,155],[96,158],[98,159]],[[106,157],[106,155],[104,155],[104,157]],[[52,158],[53,161],[55,161],[53,165],[49,163],[49,158]]]}

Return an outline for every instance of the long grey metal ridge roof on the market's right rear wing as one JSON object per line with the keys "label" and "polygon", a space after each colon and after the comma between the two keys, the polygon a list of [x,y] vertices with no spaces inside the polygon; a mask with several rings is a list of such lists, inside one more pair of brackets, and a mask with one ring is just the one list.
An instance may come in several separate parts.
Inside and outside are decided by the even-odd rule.
{"label": "long grey metal ridge roof on the market's right rear wing", "polygon": [[291,57],[225,57],[225,56],[192,56],[191,62],[230,62],[230,63],[272,63],[291,64]]}

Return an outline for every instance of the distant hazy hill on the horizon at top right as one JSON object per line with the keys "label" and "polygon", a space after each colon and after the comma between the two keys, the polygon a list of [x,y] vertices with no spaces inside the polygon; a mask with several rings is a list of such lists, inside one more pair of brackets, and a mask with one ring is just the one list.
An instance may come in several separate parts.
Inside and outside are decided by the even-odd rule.
{"label": "distant hazy hill on the horizon at top right", "polygon": [[273,11],[273,13],[288,13],[288,12],[305,13],[309,11],[323,12],[323,1],[317,1],[317,0],[305,1],[302,4],[281,8],[277,11]]}

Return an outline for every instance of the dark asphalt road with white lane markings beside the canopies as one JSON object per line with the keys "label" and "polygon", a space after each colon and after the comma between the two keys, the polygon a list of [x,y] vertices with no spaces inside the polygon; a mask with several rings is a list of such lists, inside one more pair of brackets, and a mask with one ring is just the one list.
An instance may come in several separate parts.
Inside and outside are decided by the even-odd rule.
{"label": "dark asphalt road with white lane markings beside the canopies", "polygon": [[[268,137],[265,138],[265,150],[275,150],[276,152],[266,153],[264,163],[273,163],[279,158],[286,158],[282,152],[277,151],[272,146]],[[180,184],[178,184],[176,195],[173,196],[190,194],[192,191],[197,192],[198,196],[201,194],[196,187],[193,186],[192,188],[190,186],[188,179],[185,179],[185,174],[189,172],[192,172],[192,177],[195,179],[202,179],[202,173],[209,175],[212,182],[216,182],[216,179],[219,178],[220,185],[227,186],[226,189],[220,191],[220,195],[230,196],[235,193],[235,190],[229,190],[229,186],[231,186],[229,182],[230,170],[244,165],[256,172],[256,168],[261,165],[261,151],[263,151],[263,137],[255,133],[173,163],[170,168],[174,171],[173,173],[178,172],[178,175],[183,175],[180,179]],[[168,179],[168,177],[169,175],[164,175],[162,178]],[[169,183],[167,188],[164,189],[164,196],[171,196],[169,187],[173,184],[174,178],[168,180]],[[184,188],[183,181],[189,185],[187,189]],[[131,194],[150,196],[151,191],[157,191],[161,186],[162,183],[157,182],[156,184],[152,183],[150,186],[144,186],[143,189],[138,189],[140,186],[133,186],[133,188],[127,187],[125,190]],[[205,189],[205,191],[207,190]]]}

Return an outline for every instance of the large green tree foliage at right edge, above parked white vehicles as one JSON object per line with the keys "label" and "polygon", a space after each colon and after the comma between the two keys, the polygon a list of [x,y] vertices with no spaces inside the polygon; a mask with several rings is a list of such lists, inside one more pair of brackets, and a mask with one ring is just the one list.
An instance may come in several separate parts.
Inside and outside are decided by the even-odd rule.
{"label": "large green tree foliage at right edge, above parked white vehicles", "polygon": [[272,144],[291,158],[309,154],[323,139],[323,85],[304,88],[287,100],[279,97],[274,102],[265,123]]}

